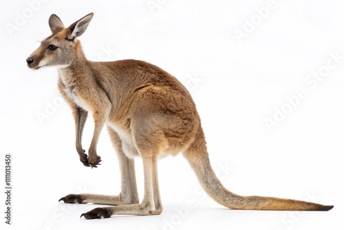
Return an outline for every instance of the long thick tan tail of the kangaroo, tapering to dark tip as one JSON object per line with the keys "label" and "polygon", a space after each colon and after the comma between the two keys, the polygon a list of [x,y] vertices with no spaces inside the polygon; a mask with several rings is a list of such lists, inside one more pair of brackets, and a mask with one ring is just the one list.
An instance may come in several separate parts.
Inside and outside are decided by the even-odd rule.
{"label": "long thick tan tail of the kangaroo, tapering to dark tip", "polygon": [[206,193],[220,205],[230,209],[247,210],[290,210],[290,211],[328,211],[332,205],[319,205],[301,200],[264,196],[239,196],[228,191],[215,175],[206,151],[202,130],[197,134],[193,144],[184,151],[184,157],[195,171]]}

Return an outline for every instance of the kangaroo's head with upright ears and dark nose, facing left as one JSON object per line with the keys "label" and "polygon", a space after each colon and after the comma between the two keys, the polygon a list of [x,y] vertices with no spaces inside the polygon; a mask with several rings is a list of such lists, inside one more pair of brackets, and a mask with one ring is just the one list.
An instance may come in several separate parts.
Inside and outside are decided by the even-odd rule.
{"label": "kangaroo's head with upright ears and dark nose, facing left", "polygon": [[65,28],[61,19],[52,14],[49,18],[52,35],[44,39],[39,48],[26,59],[28,67],[38,70],[48,66],[69,66],[76,59],[80,49],[80,42],[76,38],[85,32],[92,17],[93,13],[87,14]]}

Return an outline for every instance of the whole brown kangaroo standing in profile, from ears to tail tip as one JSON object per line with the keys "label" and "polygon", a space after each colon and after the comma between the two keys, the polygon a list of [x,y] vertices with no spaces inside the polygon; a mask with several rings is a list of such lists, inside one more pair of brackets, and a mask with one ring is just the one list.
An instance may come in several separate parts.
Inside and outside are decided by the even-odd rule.
{"label": "whole brown kangaroo standing in profile, from ears to tail tip", "polygon": [[[52,35],[41,42],[26,62],[28,67],[55,66],[58,90],[72,109],[76,151],[81,163],[97,167],[98,138],[106,124],[120,162],[121,191],[118,196],[69,194],[65,203],[113,205],[83,213],[80,218],[113,215],[158,215],[162,202],[158,186],[157,160],[182,153],[206,193],[230,209],[328,211],[331,205],[262,196],[239,196],[228,191],[211,167],[200,116],[188,90],[174,76],[144,61],[88,61],[81,36],[93,13],[65,28],[61,19],[49,19]],[[94,134],[88,155],[81,145],[87,114],[94,119]],[[142,158],[144,196],[138,199],[133,158]]]}

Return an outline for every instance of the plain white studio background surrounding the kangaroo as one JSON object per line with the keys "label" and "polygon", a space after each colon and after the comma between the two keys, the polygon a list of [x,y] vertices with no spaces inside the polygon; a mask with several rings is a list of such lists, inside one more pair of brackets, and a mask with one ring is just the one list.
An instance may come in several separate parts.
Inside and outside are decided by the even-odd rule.
{"label": "plain white studio background surrounding the kangaroo", "polygon": [[[6,153],[12,154],[13,163],[12,225],[4,224],[6,198],[1,192],[0,229],[343,226],[344,2],[6,0],[0,4],[3,189]],[[230,191],[310,200],[334,209],[226,209],[204,196],[182,156],[164,158],[158,165],[164,205],[160,216],[85,220],[80,214],[99,205],[58,203],[69,193],[120,191],[118,162],[106,130],[98,143],[102,165],[84,167],[74,147],[72,114],[56,89],[56,70],[33,71],[25,65],[39,41],[50,35],[50,14],[58,14],[67,26],[89,12],[95,13],[94,19],[80,37],[88,59],[148,61],[189,88],[213,168]],[[239,31],[245,36],[239,38]],[[315,80],[312,76],[320,76],[319,72],[324,77]],[[300,90],[303,96],[296,99]],[[293,105],[287,98],[294,98]],[[278,125],[268,129],[266,119],[274,116]],[[85,149],[92,131],[89,118]],[[136,176],[142,198],[140,159]]]}

